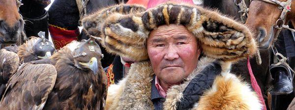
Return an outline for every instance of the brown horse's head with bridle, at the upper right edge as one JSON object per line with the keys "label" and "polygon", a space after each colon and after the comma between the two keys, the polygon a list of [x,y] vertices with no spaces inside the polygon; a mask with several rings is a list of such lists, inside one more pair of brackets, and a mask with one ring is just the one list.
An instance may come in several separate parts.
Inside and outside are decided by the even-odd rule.
{"label": "brown horse's head with bridle, at the upper right edge", "polygon": [[253,30],[260,49],[268,49],[283,25],[289,21],[294,25],[294,20],[295,0],[252,0],[246,25]]}

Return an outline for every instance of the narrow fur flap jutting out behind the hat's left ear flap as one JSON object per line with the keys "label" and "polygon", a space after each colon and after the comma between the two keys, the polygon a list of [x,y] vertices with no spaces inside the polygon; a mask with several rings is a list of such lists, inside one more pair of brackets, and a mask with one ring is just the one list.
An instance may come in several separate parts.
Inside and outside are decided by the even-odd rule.
{"label": "narrow fur flap jutting out behind the hat's left ear flap", "polygon": [[100,11],[97,11],[96,13],[89,15],[85,17],[82,20],[82,24],[84,29],[89,35],[100,37],[101,32],[101,26],[103,25],[103,22],[109,17],[110,15],[114,13],[120,13],[120,14],[129,14],[129,13],[139,13],[145,11],[146,8],[137,5],[127,5],[127,4],[119,4],[115,6],[111,6],[108,8],[103,8]]}

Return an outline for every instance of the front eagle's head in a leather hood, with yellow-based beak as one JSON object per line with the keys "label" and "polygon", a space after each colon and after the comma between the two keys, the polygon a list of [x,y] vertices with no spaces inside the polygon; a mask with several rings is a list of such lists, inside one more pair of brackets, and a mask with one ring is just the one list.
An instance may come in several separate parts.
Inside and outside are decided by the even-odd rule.
{"label": "front eagle's head in a leather hood, with yellow-based beak", "polygon": [[103,55],[101,49],[95,40],[90,38],[81,42],[74,50],[75,66],[83,70],[92,70],[94,74],[98,72],[101,66],[100,60]]}

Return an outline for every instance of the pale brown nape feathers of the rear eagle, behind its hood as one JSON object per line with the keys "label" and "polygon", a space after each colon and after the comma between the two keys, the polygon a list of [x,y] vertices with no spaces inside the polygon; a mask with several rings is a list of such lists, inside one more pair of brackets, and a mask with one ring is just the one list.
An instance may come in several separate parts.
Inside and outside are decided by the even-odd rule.
{"label": "pale brown nape feathers of the rear eagle, behind its hood", "polygon": [[33,55],[33,46],[37,43],[37,41],[41,39],[38,37],[30,37],[29,41],[26,41],[26,43],[22,44],[18,48],[17,55],[20,57],[20,62],[24,62],[24,59],[27,56]]}

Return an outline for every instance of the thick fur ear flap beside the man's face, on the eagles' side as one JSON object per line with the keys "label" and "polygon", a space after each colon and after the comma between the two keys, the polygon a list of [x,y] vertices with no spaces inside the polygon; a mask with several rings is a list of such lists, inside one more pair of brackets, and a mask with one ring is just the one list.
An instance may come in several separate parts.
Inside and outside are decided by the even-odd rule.
{"label": "thick fur ear flap beside the man's face, on the eagles' side", "polygon": [[105,22],[102,44],[111,53],[143,61],[148,59],[148,34],[140,15],[114,14]]}

